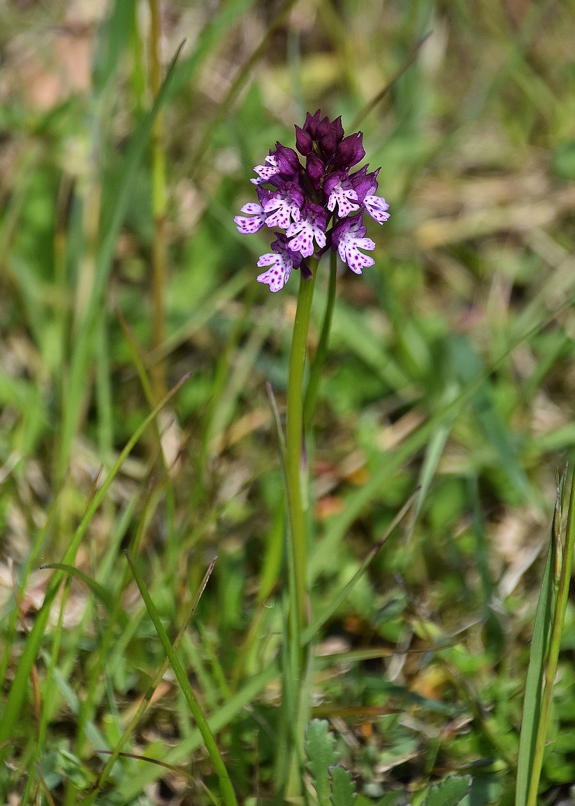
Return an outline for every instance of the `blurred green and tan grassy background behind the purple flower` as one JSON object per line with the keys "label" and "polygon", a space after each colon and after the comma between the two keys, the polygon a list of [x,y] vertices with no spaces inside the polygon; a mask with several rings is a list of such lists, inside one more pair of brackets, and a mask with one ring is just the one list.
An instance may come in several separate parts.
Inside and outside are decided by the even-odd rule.
{"label": "blurred green and tan grassy background behind the purple flower", "polygon": [[[278,682],[249,686],[281,638],[283,483],[266,381],[281,414],[297,277],[275,295],[258,285],[269,244],[239,236],[233,216],[252,200],[253,166],[276,139],[293,145],[306,111],[341,114],[353,131],[392,82],[361,124],[391,219],[368,225],[375,266],[338,278],[316,414],[314,609],[422,493],[325,625],[314,712],[366,802],[405,804],[471,771],[465,803],[511,803],[540,555],[556,468],[575,444],[573,0],[161,0],[160,11],[163,74],[184,46],[161,111],[167,277],[154,345],[148,4],[0,5],[4,695],[52,573],[39,564],[60,560],[101,467],[150,413],[157,368],[168,388],[191,373],[72,559],[119,605],[110,620],[101,590],[67,577],[2,797],[81,800],[105,764],[95,751],[115,746],[159,668],[122,555],[134,545],[173,635],[218,555],[180,656],[238,798],[269,793]],[[326,280],[324,268],[312,350]],[[573,803],[574,648],[571,603],[550,804]],[[98,802],[208,802],[211,765],[169,673],[125,750],[188,777],[121,758]]]}

